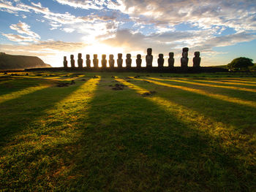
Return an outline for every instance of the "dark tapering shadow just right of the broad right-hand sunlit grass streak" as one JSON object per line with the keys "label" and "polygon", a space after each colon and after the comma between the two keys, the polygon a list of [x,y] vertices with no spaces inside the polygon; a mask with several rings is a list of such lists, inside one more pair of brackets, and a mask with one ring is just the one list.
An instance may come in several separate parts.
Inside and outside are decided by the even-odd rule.
{"label": "dark tapering shadow just right of the broad right-hand sunlit grass streak", "polygon": [[256,119],[253,118],[255,116],[254,107],[214,99],[200,93],[165,87],[154,83],[147,84],[136,80],[132,81],[132,83],[142,88],[153,87],[162,98],[171,99],[170,101],[197,111],[215,121],[234,126],[234,128],[244,132],[255,132]]}

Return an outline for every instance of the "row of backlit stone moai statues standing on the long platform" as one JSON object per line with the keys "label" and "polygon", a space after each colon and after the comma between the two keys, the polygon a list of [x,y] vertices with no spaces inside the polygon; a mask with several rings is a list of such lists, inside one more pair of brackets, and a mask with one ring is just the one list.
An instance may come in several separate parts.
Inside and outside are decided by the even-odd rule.
{"label": "row of backlit stone moai statues standing on the long platform", "polygon": [[[184,47],[182,50],[181,68],[188,67],[188,63],[189,63],[188,52],[189,52],[189,48]],[[118,68],[123,67],[122,55],[123,54],[118,53],[118,59],[116,60]],[[131,57],[132,57],[132,55],[127,53],[127,58],[125,60],[125,62],[127,64],[127,68],[132,67],[132,58]],[[173,57],[174,57],[174,53],[170,52],[169,58],[168,58],[168,67],[174,67],[175,60]],[[101,62],[102,62],[102,68],[106,68],[107,63],[109,64],[110,68],[113,68],[115,65],[114,55],[109,55],[108,61],[106,59],[106,55],[102,55]],[[200,62],[201,62],[200,52],[197,51],[197,52],[195,52],[195,57],[193,58],[193,67],[200,67]],[[138,68],[141,67],[141,63],[142,63],[141,55],[138,54],[137,59],[136,59],[136,65]],[[146,67],[152,67],[152,63],[153,63],[152,49],[148,48],[147,55],[146,55]],[[165,63],[164,54],[160,53],[159,58],[157,59],[158,67],[164,67],[164,63]],[[63,64],[64,64],[64,68],[67,68],[67,57],[66,56],[64,56]],[[72,68],[75,68],[74,55],[70,55],[70,64],[71,64]],[[94,54],[93,64],[94,64],[95,68],[99,67],[99,59],[98,59],[97,54]],[[90,55],[86,55],[86,67],[92,67]],[[83,68],[82,53],[78,53],[78,68]]]}

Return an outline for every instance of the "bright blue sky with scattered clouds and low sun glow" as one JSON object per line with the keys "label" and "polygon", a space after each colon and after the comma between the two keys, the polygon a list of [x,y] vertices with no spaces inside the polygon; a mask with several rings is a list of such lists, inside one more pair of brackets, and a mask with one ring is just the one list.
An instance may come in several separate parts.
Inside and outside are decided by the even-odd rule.
{"label": "bright blue sky with scattered clouds and low sun glow", "polygon": [[[36,55],[51,66],[63,56],[123,53],[143,56],[151,47],[175,54],[189,47],[189,66],[248,57],[256,63],[256,0],[0,0],[0,52]],[[165,59],[167,65],[167,59]]]}

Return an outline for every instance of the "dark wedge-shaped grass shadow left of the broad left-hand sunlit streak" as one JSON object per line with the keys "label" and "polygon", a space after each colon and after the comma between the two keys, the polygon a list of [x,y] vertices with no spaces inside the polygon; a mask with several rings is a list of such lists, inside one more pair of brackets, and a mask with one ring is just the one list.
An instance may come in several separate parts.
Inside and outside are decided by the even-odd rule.
{"label": "dark wedge-shaped grass shadow left of the broad left-hand sunlit streak", "polygon": [[12,139],[12,135],[26,128],[30,122],[44,115],[45,110],[76,91],[80,85],[82,84],[67,88],[43,88],[0,103],[0,146]]}

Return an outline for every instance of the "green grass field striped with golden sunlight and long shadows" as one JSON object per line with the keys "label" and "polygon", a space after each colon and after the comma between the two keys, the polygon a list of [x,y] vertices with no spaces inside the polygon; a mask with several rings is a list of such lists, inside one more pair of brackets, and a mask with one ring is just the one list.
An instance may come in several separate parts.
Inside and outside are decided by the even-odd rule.
{"label": "green grass field striped with golden sunlight and long shadows", "polygon": [[255,76],[18,74],[0,191],[256,191]]}

